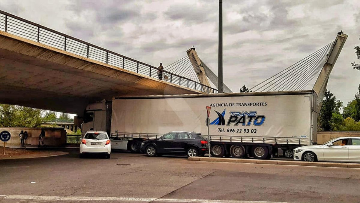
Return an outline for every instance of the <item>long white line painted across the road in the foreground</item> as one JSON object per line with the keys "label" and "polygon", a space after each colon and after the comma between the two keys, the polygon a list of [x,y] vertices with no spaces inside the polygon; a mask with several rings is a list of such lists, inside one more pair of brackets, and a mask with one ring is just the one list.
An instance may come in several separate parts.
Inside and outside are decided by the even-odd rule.
{"label": "long white line painted across the road in the foreground", "polygon": [[4,199],[31,199],[31,200],[98,200],[98,201],[126,201],[126,202],[186,202],[186,203],[289,203],[264,202],[220,199],[167,199],[167,198],[141,198],[141,197],[105,197],[105,196],[32,196],[9,195]]}

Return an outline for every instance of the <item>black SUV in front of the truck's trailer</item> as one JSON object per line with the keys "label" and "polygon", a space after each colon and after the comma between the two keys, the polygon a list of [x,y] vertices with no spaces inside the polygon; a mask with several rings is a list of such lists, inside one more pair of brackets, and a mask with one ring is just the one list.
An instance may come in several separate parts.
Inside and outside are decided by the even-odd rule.
{"label": "black SUV in front of the truck's trailer", "polygon": [[148,156],[163,154],[204,156],[208,150],[207,138],[201,133],[172,131],[159,139],[150,139],[141,143],[140,151]]}

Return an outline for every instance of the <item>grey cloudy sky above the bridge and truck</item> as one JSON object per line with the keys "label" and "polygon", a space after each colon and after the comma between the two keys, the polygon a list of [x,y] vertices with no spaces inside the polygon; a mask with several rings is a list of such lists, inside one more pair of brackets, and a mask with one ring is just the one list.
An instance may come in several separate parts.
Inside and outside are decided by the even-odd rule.
{"label": "grey cloudy sky above the bridge and truck", "polygon": [[[223,0],[224,82],[251,87],[333,41],[349,37],[328,89],[344,104],[360,83],[354,46],[360,45],[360,1]],[[158,65],[194,45],[217,73],[217,0],[1,0],[0,10]]]}

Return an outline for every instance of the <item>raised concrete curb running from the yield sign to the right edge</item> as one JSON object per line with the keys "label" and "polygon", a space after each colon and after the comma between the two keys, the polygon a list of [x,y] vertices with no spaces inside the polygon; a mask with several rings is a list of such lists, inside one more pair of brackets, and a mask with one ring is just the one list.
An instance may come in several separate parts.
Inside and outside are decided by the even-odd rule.
{"label": "raised concrete curb running from the yield sign to the right edge", "polygon": [[360,168],[360,164],[357,164],[357,163],[337,163],[337,162],[304,162],[304,161],[282,161],[282,160],[232,159],[232,158],[216,158],[216,157],[188,157],[188,160],[190,160],[190,161],[228,162],[228,163],[247,163],[247,164]]}

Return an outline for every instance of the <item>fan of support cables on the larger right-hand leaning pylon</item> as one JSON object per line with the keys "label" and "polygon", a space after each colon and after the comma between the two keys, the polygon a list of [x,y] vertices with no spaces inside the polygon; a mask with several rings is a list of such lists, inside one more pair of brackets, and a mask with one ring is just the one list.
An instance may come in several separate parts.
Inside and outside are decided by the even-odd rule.
{"label": "fan of support cables on the larger right-hand leaning pylon", "polygon": [[337,40],[330,42],[304,59],[249,88],[248,91],[295,91],[300,90],[300,87],[305,88],[325,64],[336,42]]}

